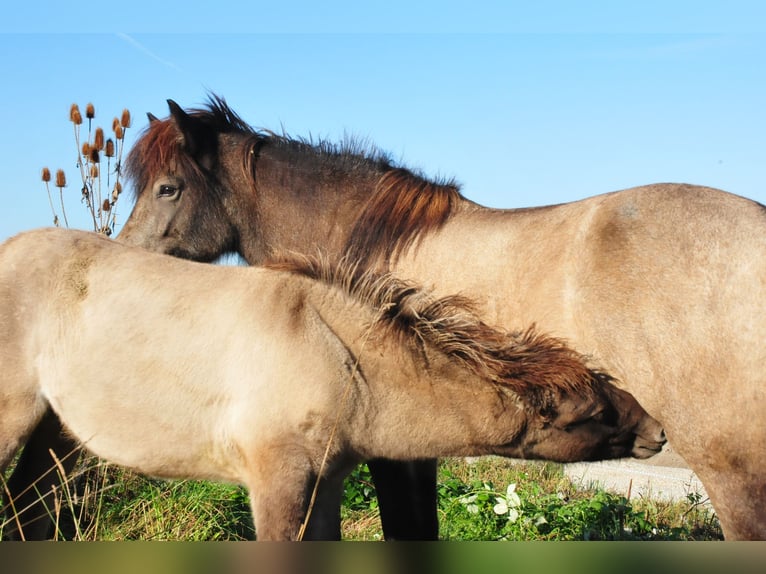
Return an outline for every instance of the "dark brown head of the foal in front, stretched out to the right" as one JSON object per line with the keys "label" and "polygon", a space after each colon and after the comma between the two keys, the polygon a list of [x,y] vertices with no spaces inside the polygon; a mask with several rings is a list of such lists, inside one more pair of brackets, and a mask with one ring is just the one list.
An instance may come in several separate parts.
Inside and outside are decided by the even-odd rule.
{"label": "dark brown head of the foal in front, stretched out to the right", "polygon": [[599,379],[593,393],[549,389],[541,400],[533,401],[521,440],[506,445],[512,454],[573,462],[648,458],[662,450],[666,442],[662,425],[633,395],[602,375]]}

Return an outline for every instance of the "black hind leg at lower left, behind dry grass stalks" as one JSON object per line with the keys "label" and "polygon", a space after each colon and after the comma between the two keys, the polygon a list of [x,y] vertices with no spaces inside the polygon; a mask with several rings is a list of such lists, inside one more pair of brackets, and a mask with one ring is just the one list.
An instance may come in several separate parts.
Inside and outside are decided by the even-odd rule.
{"label": "black hind leg at lower left, behind dry grass stalks", "polygon": [[[49,451],[53,451],[61,468]],[[48,409],[24,446],[8,480],[16,516],[7,520],[4,538],[45,540],[51,537],[56,496],[53,487],[61,483],[61,470],[65,476],[70,475],[79,452],[77,443],[62,432],[58,417]]]}

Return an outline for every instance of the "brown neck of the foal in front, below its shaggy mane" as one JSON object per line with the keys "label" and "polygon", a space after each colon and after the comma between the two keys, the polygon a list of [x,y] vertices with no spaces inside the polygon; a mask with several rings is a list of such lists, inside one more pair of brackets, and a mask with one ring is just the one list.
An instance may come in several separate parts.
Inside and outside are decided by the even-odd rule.
{"label": "brown neck of the foal in front, below its shaggy mane", "polygon": [[354,375],[364,379],[355,385],[350,417],[351,440],[361,452],[399,459],[478,456],[521,431],[513,399],[459,361],[371,327],[369,307],[327,296],[314,305],[357,362]]}

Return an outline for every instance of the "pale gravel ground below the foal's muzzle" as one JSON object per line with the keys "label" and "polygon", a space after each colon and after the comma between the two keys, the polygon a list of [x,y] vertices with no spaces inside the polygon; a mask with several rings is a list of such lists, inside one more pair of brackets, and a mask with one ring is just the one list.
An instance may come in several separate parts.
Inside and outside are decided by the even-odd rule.
{"label": "pale gravel ground below the foal's muzzle", "polygon": [[702,483],[669,445],[646,460],[571,463],[564,465],[564,472],[573,482],[597,485],[626,497],[630,494],[629,498],[686,500],[687,494],[698,493],[702,500],[707,499]]}

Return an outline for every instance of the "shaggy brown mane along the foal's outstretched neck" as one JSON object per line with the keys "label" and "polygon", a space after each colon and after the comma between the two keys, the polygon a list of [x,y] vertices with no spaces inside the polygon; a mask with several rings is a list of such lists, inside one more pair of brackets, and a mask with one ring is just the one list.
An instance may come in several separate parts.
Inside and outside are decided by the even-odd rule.
{"label": "shaggy brown mane along the foal's outstretched neck", "polygon": [[584,358],[559,339],[537,333],[506,332],[482,322],[471,301],[460,295],[434,298],[391,273],[361,270],[348,259],[331,265],[322,258],[296,256],[271,263],[341,288],[379,310],[377,324],[418,344],[428,344],[478,376],[520,394],[550,389],[593,392],[608,376],[589,370]]}

